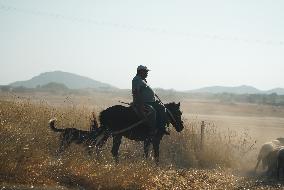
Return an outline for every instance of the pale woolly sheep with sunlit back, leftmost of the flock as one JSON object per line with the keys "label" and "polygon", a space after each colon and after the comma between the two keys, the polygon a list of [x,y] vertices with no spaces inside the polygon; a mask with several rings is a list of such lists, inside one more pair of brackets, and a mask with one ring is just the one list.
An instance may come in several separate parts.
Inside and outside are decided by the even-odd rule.
{"label": "pale woolly sheep with sunlit back, leftmost of the flock", "polygon": [[[279,138],[278,138],[279,139]],[[254,168],[254,171],[256,172],[258,165],[260,161],[262,162],[262,168],[265,169],[269,165],[267,156],[272,153],[274,150],[279,148],[281,145],[283,145],[279,140],[272,140],[271,142],[264,143],[259,151],[258,157],[257,157],[257,164]],[[272,155],[270,155],[272,156]]]}

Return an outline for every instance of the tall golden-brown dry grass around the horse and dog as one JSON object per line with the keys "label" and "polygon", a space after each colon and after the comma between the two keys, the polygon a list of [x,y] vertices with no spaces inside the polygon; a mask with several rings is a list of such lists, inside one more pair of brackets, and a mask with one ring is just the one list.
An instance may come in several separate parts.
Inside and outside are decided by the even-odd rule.
{"label": "tall golden-brown dry grass around the horse and dog", "polygon": [[[72,145],[59,158],[58,134],[48,128],[57,117],[60,127],[89,128],[91,107],[67,101],[54,107],[47,102],[13,98],[0,101],[0,184],[39,189],[250,189],[274,188],[255,178],[235,174],[247,162],[254,141],[246,134],[218,131],[208,123],[203,148],[198,131],[200,121],[185,122],[182,133],[172,131],[161,144],[161,165],[142,159],[142,143],[123,140],[121,163],[115,166],[111,142],[102,159],[89,156]],[[277,185],[276,185],[277,186]],[[278,188],[278,186],[275,188]],[[281,186],[281,184],[280,184]]]}

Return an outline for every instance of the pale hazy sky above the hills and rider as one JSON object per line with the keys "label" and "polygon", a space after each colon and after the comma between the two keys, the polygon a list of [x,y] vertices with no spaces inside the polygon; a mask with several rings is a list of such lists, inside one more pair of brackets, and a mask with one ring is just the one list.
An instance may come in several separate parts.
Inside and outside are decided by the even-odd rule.
{"label": "pale hazy sky above the hills and rider", "polygon": [[46,71],[131,88],[284,87],[283,0],[0,0],[0,84]]}

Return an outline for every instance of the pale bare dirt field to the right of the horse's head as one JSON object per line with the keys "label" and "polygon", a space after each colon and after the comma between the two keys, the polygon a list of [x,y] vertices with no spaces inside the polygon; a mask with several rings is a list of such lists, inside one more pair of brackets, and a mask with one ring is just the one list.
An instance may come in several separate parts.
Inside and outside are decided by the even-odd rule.
{"label": "pale bare dirt field to the right of the horse's head", "polygon": [[284,137],[284,107],[185,101],[184,117],[213,122],[220,130],[247,132],[260,146]]}

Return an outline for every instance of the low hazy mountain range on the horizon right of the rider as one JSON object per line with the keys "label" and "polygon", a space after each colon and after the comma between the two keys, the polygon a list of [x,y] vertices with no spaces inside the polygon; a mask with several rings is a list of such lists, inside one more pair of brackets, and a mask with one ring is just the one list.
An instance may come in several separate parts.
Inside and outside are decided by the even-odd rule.
{"label": "low hazy mountain range on the horizon right of the rider", "polygon": [[212,93],[212,94],[218,94],[218,93],[232,93],[232,94],[271,94],[276,93],[278,95],[284,95],[284,89],[283,88],[274,88],[267,91],[259,90],[252,86],[242,85],[242,86],[236,86],[236,87],[225,87],[225,86],[210,86],[205,88],[200,88],[196,90],[189,90],[187,92],[193,92],[193,93]]}

